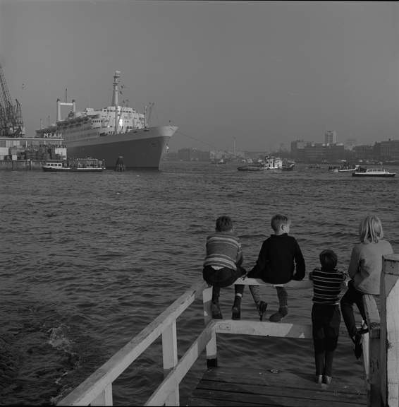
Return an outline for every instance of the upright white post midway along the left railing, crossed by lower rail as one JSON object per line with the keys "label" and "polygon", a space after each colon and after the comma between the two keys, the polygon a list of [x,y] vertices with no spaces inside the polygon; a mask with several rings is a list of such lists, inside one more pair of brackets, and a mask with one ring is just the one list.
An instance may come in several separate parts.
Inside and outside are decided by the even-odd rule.
{"label": "upright white post midway along the left railing, crossed by lower rail", "polygon": [[[164,360],[164,377],[178,364],[178,341],[176,334],[176,319],[162,332],[162,358]],[[165,406],[178,406],[179,385],[176,383],[175,389],[166,399]]]}

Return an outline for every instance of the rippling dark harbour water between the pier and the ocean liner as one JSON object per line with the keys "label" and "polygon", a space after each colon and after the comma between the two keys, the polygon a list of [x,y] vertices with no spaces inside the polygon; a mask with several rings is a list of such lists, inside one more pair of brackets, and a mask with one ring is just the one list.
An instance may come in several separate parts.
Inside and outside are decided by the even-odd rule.
{"label": "rippling dark harbour water between the pier and the ocean liner", "polygon": [[[56,403],[106,362],[202,278],[205,238],[222,214],[235,222],[247,268],[275,213],[292,218],[307,271],[326,248],[346,269],[357,225],[369,213],[381,218],[398,252],[396,177],[236,167],[163,163],[161,172],[0,173],[1,404]],[[261,293],[275,310],[275,292],[262,287]],[[310,291],[288,295],[290,317],[309,323]],[[222,290],[225,317],[232,302],[233,289]],[[257,319],[247,288],[242,317]],[[203,328],[200,300],[177,326],[180,356]],[[218,350],[219,364],[259,365],[260,355],[268,367],[314,372],[311,341],[221,335]],[[202,355],[181,386],[183,403],[205,366]],[[334,374],[360,372],[348,339],[340,338]],[[145,403],[162,375],[159,339],[115,382],[114,404]]]}

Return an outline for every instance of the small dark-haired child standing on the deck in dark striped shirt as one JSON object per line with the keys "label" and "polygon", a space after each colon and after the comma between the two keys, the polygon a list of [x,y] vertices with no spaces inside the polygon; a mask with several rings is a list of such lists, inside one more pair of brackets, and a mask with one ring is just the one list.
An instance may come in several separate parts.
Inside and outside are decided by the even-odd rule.
{"label": "small dark-haired child standing on the deck in dark striped shirt", "polygon": [[323,250],[321,268],[309,273],[313,281],[312,336],[316,382],[330,384],[333,355],[336,350],[340,327],[339,295],[345,287],[346,275],[336,269],[337,255]]}

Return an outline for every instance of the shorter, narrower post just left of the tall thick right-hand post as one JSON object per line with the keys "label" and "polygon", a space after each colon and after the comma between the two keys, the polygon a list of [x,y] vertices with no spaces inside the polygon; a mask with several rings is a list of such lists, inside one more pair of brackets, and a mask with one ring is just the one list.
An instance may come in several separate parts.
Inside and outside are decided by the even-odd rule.
{"label": "shorter, narrower post just left of the tall thick right-hand post", "polygon": [[[363,335],[364,371],[367,376],[367,406],[381,406],[380,389],[380,318],[373,295],[363,295],[364,311],[369,332]],[[367,345],[366,345],[367,344]],[[366,349],[367,348],[367,349]]]}

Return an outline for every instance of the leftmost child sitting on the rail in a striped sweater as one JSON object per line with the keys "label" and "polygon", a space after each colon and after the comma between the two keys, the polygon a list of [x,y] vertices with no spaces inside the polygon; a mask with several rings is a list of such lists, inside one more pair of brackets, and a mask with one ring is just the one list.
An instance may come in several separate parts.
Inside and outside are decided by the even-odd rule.
{"label": "leftmost child sitting on the rail in a striped sweater", "polygon": [[[219,306],[220,289],[228,287],[237,278],[244,276],[243,251],[237,236],[233,234],[233,221],[229,216],[220,216],[216,219],[216,230],[207,237],[207,256],[204,260],[202,276],[209,285],[212,285],[212,318],[221,319]],[[237,295],[237,285],[235,291]],[[243,295],[243,293],[238,293]]]}

